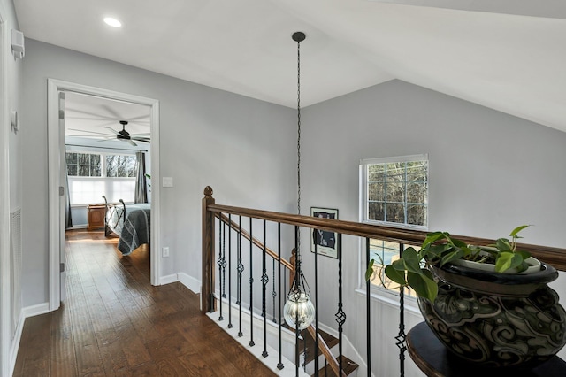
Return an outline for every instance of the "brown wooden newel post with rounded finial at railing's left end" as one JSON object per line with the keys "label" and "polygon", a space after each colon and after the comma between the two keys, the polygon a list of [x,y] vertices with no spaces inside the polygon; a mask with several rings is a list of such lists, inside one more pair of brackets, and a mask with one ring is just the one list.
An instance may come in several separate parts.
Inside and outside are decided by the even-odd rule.
{"label": "brown wooden newel post with rounded finial at railing's left end", "polygon": [[201,304],[203,313],[216,311],[214,299],[214,212],[208,206],[214,204],[212,188],[204,188],[203,197],[203,286]]}

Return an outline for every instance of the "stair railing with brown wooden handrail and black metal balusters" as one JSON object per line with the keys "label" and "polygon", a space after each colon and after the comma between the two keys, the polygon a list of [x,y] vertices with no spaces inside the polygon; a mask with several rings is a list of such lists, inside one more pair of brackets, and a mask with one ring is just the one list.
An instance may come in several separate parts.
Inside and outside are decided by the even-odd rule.
{"label": "stair railing with brown wooden handrail and black metal balusters", "polygon": [[[236,223],[234,222],[231,217],[232,215],[234,216],[238,216],[239,217],[239,222]],[[246,217],[249,218],[249,231],[246,231],[242,228],[242,218]],[[216,245],[215,245],[215,235],[217,234],[217,230],[215,228],[215,219],[219,219],[219,224],[221,225],[221,229],[218,229],[218,244],[222,245],[221,249],[218,253],[219,257],[218,257],[218,266],[219,266],[219,271],[221,274],[220,280],[222,281],[222,275],[225,272],[225,268],[226,268],[226,250],[224,250],[225,248],[225,243],[226,243],[226,225],[229,228],[229,230],[233,230],[234,232],[236,232],[239,235],[239,240],[238,240],[238,247],[237,247],[237,261],[238,261],[238,265],[237,265],[237,271],[238,271],[238,303],[240,304],[240,321],[241,321],[241,288],[242,288],[242,284],[241,284],[241,279],[242,279],[242,270],[243,270],[243,250],[241,248],[241,238],[245,238],[250,242],[249,245],[249,266],[251,267],[252,265],[252,248],[255,246],[256,248],[258,248],[259,250],[263,251],[263,275],[262,275],[262,282],[263,282],[263,288],[264,288],[264,292],[263,292],[263,303],[262,303],[262,316],[264,317],[264,321],[266,319],[266,312],[265,312],[265,290],[266,290],[266,281],[268,281],[268,278],[266,277],[266,266],[265,266],[265,257],[269,256],[271,257],[274,261],[278,262],[279,265],[279,279],[278,279],[278,284],[279,284],[279,289],[277,290],[277,292],[281,292],[281,273],[280,273],[280,266],[283,265],[286,269],[288,269],[288,271],[290,273],[294,273],[294,266],[287,262],[287,260],[285,260],[284,258],[281,258],[281,224],[287,224],[287,225],[291,225],[294,227],[308,227],[311,229],[318,229],[318,230],[325,230],[325,231],[329,231],[329,232],[334,232],[338,235],[338,240],[339,240],[339,245],[338,245],[338,253],[339,253],[339,286],[340,286],[340,303],[339,303],[339,312],[336,313],[336,317],[337,317],[337,321],[339,322],[339,336],[340,336],[340,356],[339,356],[339,360],[340,360],[340,364],[338,366],[336,366],[336,361],[334,360],[334,358],[332,357],[332,354],[330,353],[330,350],[327,349],[327,347],[325,348],[325,343],[322,340],[322,338],[320,337],[319,333],[318,333],[318,328],[317,327],[309,327],[308,331],[311,335],[313,335],[313,338],[316,340],[316,342],[318,343],[318,347],[321,348],[322,353],[325,355],[325,357],[327,359],[329,359],[329,362],[331,363],[331,367],[333,369],[333,372],[336,373],[337,375],[345,375],[343,374],[343,368],[341,365],[341,359],[342,359],[342,352],[341,352],[341,327],[345,321],[346,315],[344,312],[342,312],[341,310],[341,235],[356,235],[359,237],[363,237],[365,238],[365,244],[366,244],[366,259],[369,259],[369,254],[370,254],[370,240],[371,239],[379,239],[379,240],[384,240],[384,241],[389,241],[389,242],[397,242],[400,244],[400,253],[402,252],[402,250],[404,249],[404,245],[408,244],[408,245],[420,245],[422,244],[422,242],[424,241],[425,237],[426,237],[426,232],[424,231],[419,231],[419,230],[412,230],[412,229],[399,229],[399,228],[394,228],[394,227],[383,227],[383,226],[376,226],[376,225],[371,225],[371,224],[363,224],[363,223],[358,223],[358,222],[353,222],[353,221],[345,221],[345,220],[338,220],[338,219],[324,219],[324,218],[315,218],[315,217],[310,217],[310,216],[304,216],[304,215],[295,215],[295,214],[289,214],[289,213],[283,213],[283,212],[269,212],[269,211],[261,211],[261,210],[254,210],[254,209],[249,209],[249,208],[243,208],[243,207],[234,207],[234,206],[228,206],[228,205],[220,205],[220,204],[216,204],[214,198],[212,197],[212,188],[210,188],[210,186],[207,186],[204,189],[204,198],[203,198],[203,271],[202,271],[202,276],[203,276],[203,286],[202,286],[202,290],[201,290],[201,300],[202,300],[202,310],[204,313],[206,312],[216,312],[217,311],[217,301],[220,302],[220,304],[222,303],[222,298],[220,298],[219,300],[217,300],[217,297],[215,296],[215,287],[216,287],[216,279],[215,279],[215,255],[216,255]],[[264,220],[264,242],[261,242],[259,240],[257,240],[253,235],[252,235],[252,219],[260,219],[260,220]],[[279,244],[279,248],[278,251],[274,251],[274,250],[270,250],[265,246],[265,222],[266,221],[270,221],[270,222],[275,222],[278,224],[278,244]],[[298,232],[295,232],[295,235]],[[229,233],[228,235],[228,240],[229,240],[229,244],[230,247],[232,246],[232,240],[230,239],[230,235],[231,233]],[[467,242],[470,244],[477,244],[477,245],[488,245],[488,244],[492,244],[493,240],[489,240],[489,239],[484,239],[484,238],[476,238],[476,237],[467,237],[467,236],[460,236],[460,235],[456,235],[456,237],[458,237],[459,239],[462,239],[463,242]],[[295,240],[296,242],[296,240]],[[530,245],[530,244],[518,244],[518,247],[521,247],[524,250],[529,250],[532,254],[533,257],[535,258],[539,258],[539,260],[542,260],[548,264],[552,264],[555,266],[556,269],[565,271],[566,270],[566,260],[563,256],[563,250],[562,249],[558,249],[558,248],[550,248],[550,247],[544,247],[544,246],[538,246],[538,245]],[[317,252],[315,252],[316,256],[315,258],[317,258]],[[228,258],[232,258],[232,251],[228,250]],[[230,269],[228,270],[228,272],[230,273]],[[275,278],[275,271],[273,272],[273,278]],[[229,284],[232,282],[232,278],[229,277]],[[226,282],[226,278],[224,278],[224,281]],[[249,288],[250,288],[250,297],[249,297],[249,301],[250,301],[250,321],[253,321],[253,317],[254,317],[254,307],[253,307],[253,278],[250,275],[249,278]],[[274,281],[273,281],[274,284]],[[366,365],[367,365],[367,375],[371,376],[371,328],[370,328],[370,317],[371,317],[371,312],[370,312],[370,281],[367,281],[366,284],[366,297],[367,297],[367,302],[366,302],[366,316],[367,316],[367,329],[366,329],[366,334],[368,336],[367,338],[367,355],[366,355]],[[223,283],[220,282],[220,285],[222,286]],[[317,281],[315,281],[315,285],[317,285]],[[229,289],[231,290],[231,289]],[[221,293],[220,296],[221,297],[226,297],[225,293],[224,293],[224,289],[220,289]],[[273,297],[275,300],[275,294],[276,291],[275,289],[273,290]],[[232,294],[230,293],[228,296],[232,296]],[[402,292],[400,292],[400,324],[399,324],[399,335],[395,337],[395,339],[397,340],[396,344],[400,350],[400,354],[399,354],[399,359],[400,359],[400,363],[401,363],[401,375],[404,375],[404,365],[403,365],[403,361],[405,358],[405,351],[406,351],[406,343],[405,343],[405,333],[404,333],[404,318],[403,318],[403,312],[404,312],[404,308],[403,308],[403,298],[404,298],[404,294]],[[228,297],[229,299],[230,297]],[[231,308],[231,305],[228,306],[229,309]],[[222,309],[220,310],[220,317],[222,318]],[[273,317],[274,319],[277,319],[278,321],[280,321],[281,317],[281,299],[279,296],[279,312],[275,313],[275,304],[273,307]],[[228,325],[228,327],[232,327],[232,324],[230,323]],[[240,324],[241,327],[241,324]],[[265,328],[265,327],[264,327]],[[254,339],[253,339],[253,324],[252,324],[252,334],[250,336],[250,342],[249,345],[253,346],[255,344]],[[239,336],[241,336],[241,331],[238,334]],[[264,330],[264,344],[266,343],[265,341],[265,330]],[[321,342],[322,341],[322,342]],[[267,352],[264,348],[264,352],[263,352],[264,357],[267,356]],[[279,323],[279,365],[278,368],[282,369],[283,365],[281,363],[281,324]],[[317,359],[317,357],[316,357]],[[296,363],[296,368],[297,368],[297,375],[298,375],[298,362]],[[334,365],[333,365],[334,364]]]}

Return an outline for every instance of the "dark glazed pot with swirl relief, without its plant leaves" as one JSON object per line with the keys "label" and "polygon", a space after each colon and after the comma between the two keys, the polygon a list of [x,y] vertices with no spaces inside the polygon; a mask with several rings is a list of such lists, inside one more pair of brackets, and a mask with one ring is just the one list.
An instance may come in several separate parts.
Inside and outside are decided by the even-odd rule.
{"label": "dark glazed pot with swirl relief, without its plant leaves", "polygon": [[418,298],[424,320],[456,356],[476,365],[532,368],[566,343],[566,312],[547,282],[555,268],[528,275],[487,273],[457,265],[434,269],[434,304]]}

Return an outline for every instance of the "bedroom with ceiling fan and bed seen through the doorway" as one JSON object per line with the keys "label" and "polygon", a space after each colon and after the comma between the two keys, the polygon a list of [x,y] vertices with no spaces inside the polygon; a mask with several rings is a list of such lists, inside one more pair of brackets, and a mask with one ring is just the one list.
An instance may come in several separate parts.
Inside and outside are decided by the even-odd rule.
{"label": "bedroom with ceiling fan and bed seen through the doorway", "polygon": [[105,237],[119,237],[118,248],[128,255],[149,244],[150,109],[103,96],[63,93],[59,106],[65,107],[66,229],[103,229]]}

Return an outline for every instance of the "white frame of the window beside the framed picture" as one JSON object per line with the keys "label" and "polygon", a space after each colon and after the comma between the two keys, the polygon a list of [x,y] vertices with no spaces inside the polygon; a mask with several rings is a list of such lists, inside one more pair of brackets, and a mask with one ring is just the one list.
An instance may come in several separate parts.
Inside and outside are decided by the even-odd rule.
{"label": "white frame of the window beside the framed picture", "polygon": [[[396,222],[389,222],[389,221],[379,221],[379,220],[372,220],[368,219],[368,188],[367,188],[367,165],[372,164],[387,164],[387,163],[399,163],[399,162],[411,162],[411,161],[427,161],[427,173],[426,173],[426,181],[427,184],[429,183],[429,173],[430,173],[430,161],[428,159],[428,154],[420,154],[420,155],[409,155],[409,156],[400,156],[400,157],[387,157],[387,158],[364,158],[360,160],[359,165],[359,215],[360,215],[360,222],[366,224],[377,224],[383,225],[387,227],[400,227],[404,229],[418,229],[418,230],[428,230],[428,209],[430,207],[430,201],[428,200],[428,193],[430,192],[429,186],[427,186],[427,205],[426,205],[426,225],[425,226],[418,226],[418,225],[411,225],[411,224],[401,224]],[[405,198],[406,203],[406,198]],[[358,293],[363,294],[365,292],[365,271],[367,269],[368,261],[365,260],[365,239],[360,239],[359,243],[359,250],[360,250],[360,286],[357,289]],[[377,284],[371,284],[371,296],[380,302],[384,302],[387,304],[394,304],[395,300],[392,298],[392,295],[398,296],[398,290],[391,290],[385,289]],[[409,298],[406,301],[406,304],[409,306],[417,305],[417,301],[412,297],[405,295],[406,298]],[[392,301],[393,300],[393,301]]]}

